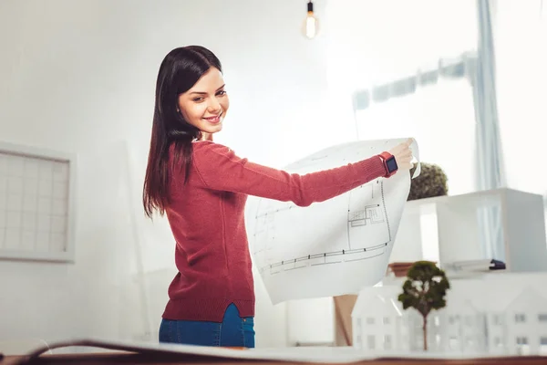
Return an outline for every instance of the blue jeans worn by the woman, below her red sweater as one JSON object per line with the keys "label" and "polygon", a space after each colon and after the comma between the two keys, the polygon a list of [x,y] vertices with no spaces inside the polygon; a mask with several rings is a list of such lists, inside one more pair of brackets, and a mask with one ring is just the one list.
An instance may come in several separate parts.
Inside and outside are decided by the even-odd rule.
{"label": "blue jeans worn by the woman, below her red sweater", "polygon": [[241,318],[233,304],[226,308],[221,323],[163,318],[160,325],[160,342],[253,348],[254,319]]}

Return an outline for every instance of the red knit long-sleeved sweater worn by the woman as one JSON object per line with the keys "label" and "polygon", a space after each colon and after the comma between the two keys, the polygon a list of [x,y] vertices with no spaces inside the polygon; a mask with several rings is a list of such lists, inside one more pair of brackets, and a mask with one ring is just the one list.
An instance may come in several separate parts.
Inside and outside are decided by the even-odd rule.
{"label": "red knit long-sleeved sweater worn by the woman", "polygon": [[[163,318],[221,322],[231,304],[254,315],[251,256],[244,224],[247,195],[299,206],[322,202],[386,173],[377,156],[305,175],[248,162],[212,141],[193,144],[189,180],[171,172],[166,209],[176,240],[179,273],[170,284]],[[172,150],[171,150],[172,158]]]}

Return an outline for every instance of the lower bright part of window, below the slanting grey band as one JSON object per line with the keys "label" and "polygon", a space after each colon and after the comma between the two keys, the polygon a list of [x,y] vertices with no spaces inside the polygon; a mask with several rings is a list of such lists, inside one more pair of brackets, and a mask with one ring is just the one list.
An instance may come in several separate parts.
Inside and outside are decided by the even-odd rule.
{"label": "lower bright part of window, below the slanting grey band", "polygon": [[475,110],[467,79],[370,105],[356,112],[356,124],[362,140],[416,138],[420,160],[447,174],[450,194],[474,191]]}

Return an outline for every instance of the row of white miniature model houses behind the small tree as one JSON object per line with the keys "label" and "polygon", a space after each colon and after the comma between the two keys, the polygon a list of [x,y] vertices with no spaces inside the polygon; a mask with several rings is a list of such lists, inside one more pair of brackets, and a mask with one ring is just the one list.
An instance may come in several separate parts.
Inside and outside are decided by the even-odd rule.
{"label": "row of white miniature model houses behind the small tree", "polygon": [[[450,280],[447,307],[428,316],[428,349],[447,353],[547,355],[547,286],[543,273],[500,273]],[[352,313],[354,346],[422,350],[422,318],[403,310],[404,280],[361,291]]]}

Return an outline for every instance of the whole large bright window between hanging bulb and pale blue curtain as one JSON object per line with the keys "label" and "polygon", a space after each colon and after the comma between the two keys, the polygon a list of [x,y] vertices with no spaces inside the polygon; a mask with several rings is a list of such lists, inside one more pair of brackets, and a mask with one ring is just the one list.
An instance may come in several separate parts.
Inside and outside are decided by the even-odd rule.
{"label": "whole large bright window between hanging bulb and pale blue curtain", "polygon": [[[474,191],[470,81],[454,74],[428,78],[428,71],[438,70],[440,59],[477,49],[475,2],[341,0],[330,2],[327,14],[327,82],[333,104],[351,108],[356,90],[370,95],[367,105],[340,117],[355,117],[352,139],[415,137],[422,162],[439,164],[447,173],[450,194]],[[412,78],[423,82],[398,93],[413,84]],[[384,98],[384,91],[393,94],[394,89],[397,96]]]}

